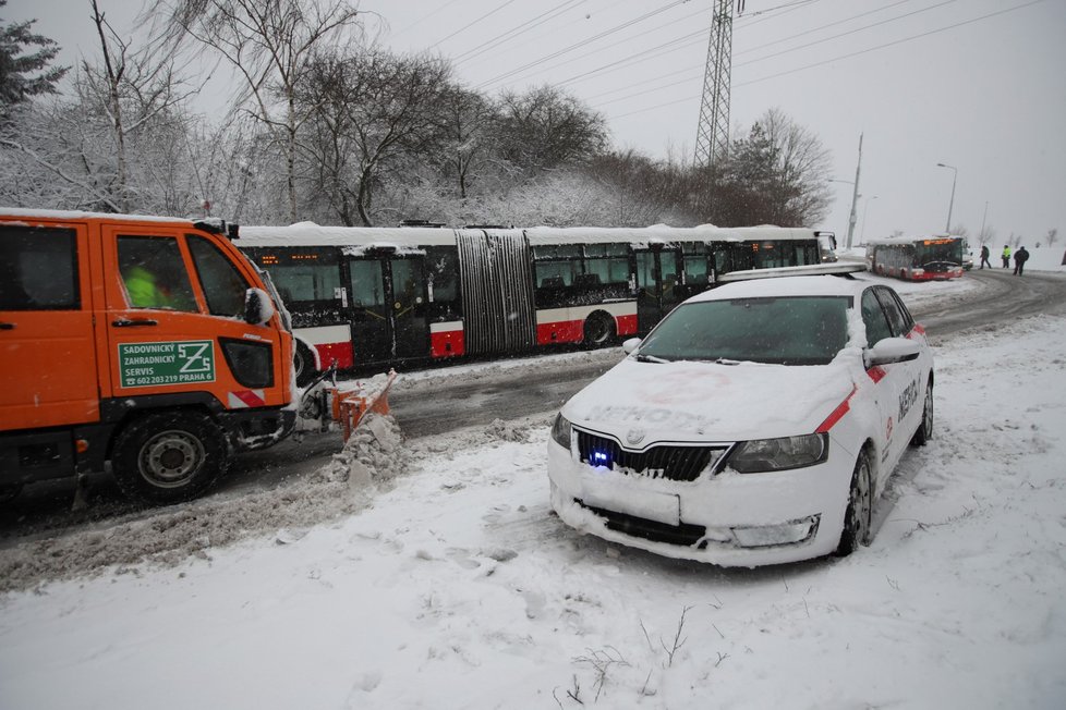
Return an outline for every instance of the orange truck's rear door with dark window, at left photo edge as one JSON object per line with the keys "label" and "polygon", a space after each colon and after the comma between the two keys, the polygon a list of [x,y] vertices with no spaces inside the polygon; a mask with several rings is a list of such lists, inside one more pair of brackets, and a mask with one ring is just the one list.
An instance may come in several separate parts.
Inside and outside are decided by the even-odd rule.
{"label": "orange truck's rear door with dark window, at left photo edge", "polygon": [[0,430],[99,419],[85,224],[0,224]]}

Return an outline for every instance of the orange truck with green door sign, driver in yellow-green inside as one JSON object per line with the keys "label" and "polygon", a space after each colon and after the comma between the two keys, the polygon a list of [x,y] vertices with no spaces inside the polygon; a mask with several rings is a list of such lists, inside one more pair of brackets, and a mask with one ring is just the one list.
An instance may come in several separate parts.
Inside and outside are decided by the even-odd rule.
{"label": "orange truck with green door sign, driver in yellow-green inside", "polygon": [[292,334],[220,221],[0,208],[0,499],[110,470],[204,492],[295,426]]}

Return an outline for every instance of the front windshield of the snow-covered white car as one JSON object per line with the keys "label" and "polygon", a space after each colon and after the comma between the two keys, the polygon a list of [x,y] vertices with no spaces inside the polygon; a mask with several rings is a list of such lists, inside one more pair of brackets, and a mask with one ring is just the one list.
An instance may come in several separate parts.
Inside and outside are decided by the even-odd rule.
{"label": "front windshield of the snow-covered white car", "polygon": [[676,308],[640,345],[643,362],[825,365],[848,342],[848,296],[703,301]]}

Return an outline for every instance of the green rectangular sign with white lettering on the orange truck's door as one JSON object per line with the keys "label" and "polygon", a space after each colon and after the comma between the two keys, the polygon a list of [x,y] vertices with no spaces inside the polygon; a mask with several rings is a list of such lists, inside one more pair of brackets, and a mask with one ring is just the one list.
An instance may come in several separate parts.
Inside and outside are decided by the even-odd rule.
{"label": "green rectangular sign with white lettering on the orange truck's door", "polygon": [[172,343],[121,343],[122,387],[156,387],[215,381],[215,343],[183,340]]}

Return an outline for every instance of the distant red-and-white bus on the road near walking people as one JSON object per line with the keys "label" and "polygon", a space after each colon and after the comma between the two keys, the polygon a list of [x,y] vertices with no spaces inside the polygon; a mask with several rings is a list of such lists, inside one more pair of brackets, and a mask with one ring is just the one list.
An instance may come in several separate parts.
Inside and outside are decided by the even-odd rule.
{"label": "distant red-and-white bus on the road near walking people", "polygon": [[962,276],[966,241],[957,236],[893,236],[867,242],[867,268],[905,281],[944,281]]}

